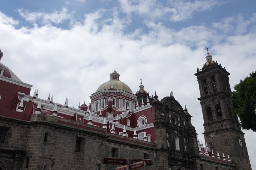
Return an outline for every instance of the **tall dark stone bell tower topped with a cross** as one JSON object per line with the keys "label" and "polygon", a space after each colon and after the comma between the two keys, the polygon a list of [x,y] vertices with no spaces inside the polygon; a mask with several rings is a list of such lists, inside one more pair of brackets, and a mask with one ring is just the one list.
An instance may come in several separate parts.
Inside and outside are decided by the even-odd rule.
{"label": "tall dark stone bell tower topped with a cross", "polygon": [[[207,48],[208,51],[208,48]],[[215,152],[229,154],[236,169],[251,170],[244,133],[230,103],[230,73],[207,53],[202,69],[197,68],[204,139]]]}

